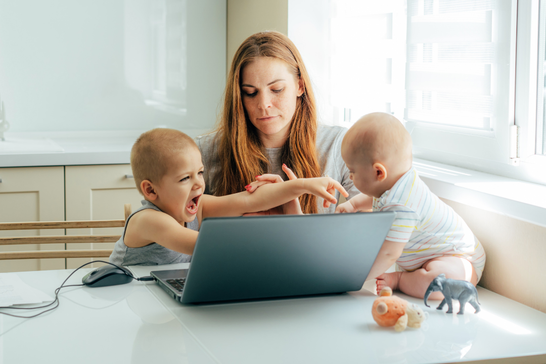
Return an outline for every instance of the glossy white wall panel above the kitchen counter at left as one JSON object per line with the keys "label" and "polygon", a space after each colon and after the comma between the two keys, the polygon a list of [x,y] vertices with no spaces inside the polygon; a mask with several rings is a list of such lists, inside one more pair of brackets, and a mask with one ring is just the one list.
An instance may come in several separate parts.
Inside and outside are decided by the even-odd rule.
{"label": "glossy white wall panel above the kitchen counter at left", "polygon": [[10,131],[209,128],[226,0],[0,0]]}

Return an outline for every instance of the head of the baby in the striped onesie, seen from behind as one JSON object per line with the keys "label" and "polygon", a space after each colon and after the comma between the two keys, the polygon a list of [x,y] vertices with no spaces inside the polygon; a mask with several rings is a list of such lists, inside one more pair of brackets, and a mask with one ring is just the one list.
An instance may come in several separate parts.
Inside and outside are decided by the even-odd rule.
{"label": "head of the baby in the striped onesie, seen from behind", "polygon": [[394,116],[373,112],[361,117],[345,134],[341,156],[354,186],[379,198],[411,169],[410,133]]}

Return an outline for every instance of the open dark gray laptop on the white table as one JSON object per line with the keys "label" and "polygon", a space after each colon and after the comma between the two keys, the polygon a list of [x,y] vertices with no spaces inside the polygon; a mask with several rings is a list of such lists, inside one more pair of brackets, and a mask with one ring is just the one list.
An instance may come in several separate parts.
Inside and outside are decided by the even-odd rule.
{"label": "open dark gray laptop on the white table", "polygon": [[188,269],[153,271],[182,303],[362,288],[394,212],[206,218]]}

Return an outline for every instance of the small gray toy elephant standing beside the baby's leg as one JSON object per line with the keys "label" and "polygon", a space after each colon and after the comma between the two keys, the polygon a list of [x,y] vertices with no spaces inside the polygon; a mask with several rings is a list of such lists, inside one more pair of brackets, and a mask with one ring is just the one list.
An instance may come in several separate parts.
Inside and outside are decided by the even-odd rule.
{"label": "small gray toy elephant standing beside the baby's leg", "polygon": [[444,295],[443,301],[440,303],[440,306],[436,309],[442,309],[447,303],[447,313],[453,313],[453,302],[452,300],[458,300],[460,303],[460,309],[457,314],[462,315],[465,313],[466,302],[470,302],[472,307],[476,309],[476,312],[480,312],[478,306],[478,291],[476,287],[470,282],[458,281],[456,279],[446,278],[446,275],[443,273],[438,275],[436,278],[430,282],[429,288],[426,289],[425,293],[425,306],[430,307],[426,304],[426,299],[429,298],[432,292],[441,291]]}

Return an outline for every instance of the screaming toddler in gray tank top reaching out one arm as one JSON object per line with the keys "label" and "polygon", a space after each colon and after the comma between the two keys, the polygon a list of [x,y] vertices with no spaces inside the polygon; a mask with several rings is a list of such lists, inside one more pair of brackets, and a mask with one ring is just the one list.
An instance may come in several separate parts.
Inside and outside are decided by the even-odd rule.
{"label": "screaming toddler in gray tank top reaching out one arm", "polygon": [[173,129],[153,129],[140,135],[130,158],[136,187],[144,200],[127,218],[110,255],[110,262],[117,265],[188,262],[199,225],[206,217],[268,210],[304,193],[323,198],[325,207],[336,203],[334,189],[348,196],[341,184],[329,177],[253,182],[247,192],[204,195],[199,148],[189,136]]}

